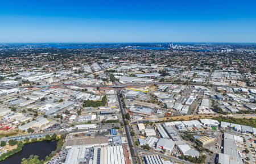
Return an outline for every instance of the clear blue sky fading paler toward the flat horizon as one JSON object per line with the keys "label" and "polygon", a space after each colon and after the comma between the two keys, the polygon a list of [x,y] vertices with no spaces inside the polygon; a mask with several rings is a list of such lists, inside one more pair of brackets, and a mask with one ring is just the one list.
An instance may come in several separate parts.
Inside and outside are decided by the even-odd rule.
{"label": "clear blue sky fading paler toward the flat horizon", "polygon": [[256,43],[256,1],[0,2],[1,43]]}

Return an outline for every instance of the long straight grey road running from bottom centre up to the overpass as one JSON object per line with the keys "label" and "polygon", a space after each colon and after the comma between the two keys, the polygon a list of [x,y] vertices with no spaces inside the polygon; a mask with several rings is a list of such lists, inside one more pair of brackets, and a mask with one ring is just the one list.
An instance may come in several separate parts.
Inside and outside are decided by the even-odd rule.
{"label": "long straight grey road running from bottom centre up to the overpass", "polygon": [[[130,125],[125,124],[125,118],[123,117],[123,114],[126,113],[126,111],[123,110],[123,104],[122,104],[119,94],[120,94],[120,90],[117,91],[117,99],[118,99],[118,103],[119,103],[121,113],[122,113],[123,124],[125,125],[125,133],[126,133],[128,145],[129,145],[130,152],[131,152],[131,158],[132,158],[134,164],[137,163],[137,161],[139,164],[141,164],[141,161],[139,160],[138,155],[136,155],[136,154],[138,154],[138,152],[137,152],[137,148],[134,144],[133,137],[131,137]],[[137,159],[136,159],[136,156],[137,156]]]}

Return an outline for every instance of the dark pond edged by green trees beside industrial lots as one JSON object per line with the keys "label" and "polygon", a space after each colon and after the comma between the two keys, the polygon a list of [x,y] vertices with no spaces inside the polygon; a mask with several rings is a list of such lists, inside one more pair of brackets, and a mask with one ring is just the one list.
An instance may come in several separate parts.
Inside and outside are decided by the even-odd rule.
{"label": "dark pond edged by green trees beside industrial lots", "polygon": [[28,158],[30,155],[38,155],[39,159],[45,159],[46,155],[51,154],[52,151],[56,150],[57,141],[39,141],[25,144],[23,149],[9,158],[0,161],[0,164],[19,164],[22,158]]}

